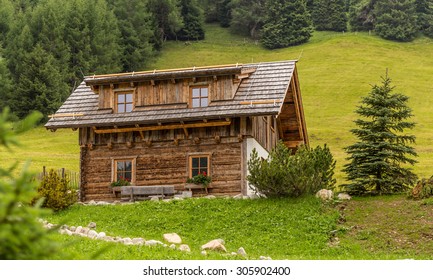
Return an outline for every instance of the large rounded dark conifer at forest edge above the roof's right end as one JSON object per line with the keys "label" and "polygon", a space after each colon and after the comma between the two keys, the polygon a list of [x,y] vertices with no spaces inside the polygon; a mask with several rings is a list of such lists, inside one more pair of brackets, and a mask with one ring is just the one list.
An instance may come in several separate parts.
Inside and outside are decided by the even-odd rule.
{"label": "large rounded dark conifer at forest edge above the roof's right end", "polygon": [[311,20],[304,0],[270,0],[266,12],[261,38],[266,48],[284,48],[310,39]]}

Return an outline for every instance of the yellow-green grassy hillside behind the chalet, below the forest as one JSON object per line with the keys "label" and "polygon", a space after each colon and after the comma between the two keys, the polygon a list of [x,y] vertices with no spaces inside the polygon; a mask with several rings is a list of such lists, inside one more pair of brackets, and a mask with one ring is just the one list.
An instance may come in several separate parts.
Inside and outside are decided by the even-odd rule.
{"label": "yellow-green grassy hillside behind the chalet, below the forest", "polygon": [[[346,154],[343,147],[353,143],[353,113],[360,97],[372,84],[380,83],[388,69],[397,92],[410,96],[417,127],[421,177],[433,175],[433,40],[419,38],[412,43],[395,43],[367,33],[316,32],[309,43],[266,50],[249,39],[234,36],[218,26],[207,26],[207,39],[200,42],[167,42],[149,69],[250,63],[299,59],[305,115],[311,144],[328,143],[337,159],[337,179]],[[13,158],[32,158],[35,169],[42,165],[78,170],[77,133],[70,130],[45,132],[37,129],[22,138],[24,150],[15,149]],[[1,158],[10,156],[0,150]],[[5,162],[0,163],[4,165]]]}

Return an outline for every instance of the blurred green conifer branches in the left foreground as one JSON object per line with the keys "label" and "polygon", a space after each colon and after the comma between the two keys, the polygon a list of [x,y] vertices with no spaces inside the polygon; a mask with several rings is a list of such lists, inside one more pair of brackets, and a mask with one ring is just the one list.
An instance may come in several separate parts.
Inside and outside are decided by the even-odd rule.
{"label": "blurred green conifer branches in the left foreground", "polygon": [[[33,127],[41,115],[32,114],[12,131],[7,112],[4,110],[0,117],[0,146],[9,147],[17,144],[15,134]],[[28,165],[17,178],[12,175],[15,169],[16,164],[8,169],[0,168],[0,259],[47,259],[56,251],[57,244],[49,238],[38,218],[48,211],[40,209],[41,201],[30,205],[36,186]]]}

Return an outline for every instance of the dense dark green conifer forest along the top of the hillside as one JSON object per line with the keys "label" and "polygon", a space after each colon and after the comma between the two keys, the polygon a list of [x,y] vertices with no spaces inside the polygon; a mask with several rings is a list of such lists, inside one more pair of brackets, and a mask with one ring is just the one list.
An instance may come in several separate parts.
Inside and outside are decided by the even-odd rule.
{"label": "dense dark green conifer forest along the top of the hillside", "polygon": [[0,110],[54,113],[85,75],[147,69],[205,23],[278,49],[317,31],[433,37],[432,0],[0,0]]}

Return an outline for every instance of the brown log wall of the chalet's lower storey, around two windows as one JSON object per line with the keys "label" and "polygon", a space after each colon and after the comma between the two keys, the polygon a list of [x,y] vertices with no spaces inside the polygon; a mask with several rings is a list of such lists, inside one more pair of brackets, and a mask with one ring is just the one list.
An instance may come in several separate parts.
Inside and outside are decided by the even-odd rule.
{"label": "brown log wall of the chalet's lower storey, around two windows", "polygon": [[138,132],[95,134],[91,128],[81,128],[82,197],[115,199],[109,189],[112,160],[122,157],[136,158],[135,185],[174,185],[184,190],[188,157],[196,154],[210,155],[211,194],[238,194],[245,170],[239,123],[238,118],[230,126],[190,129],[188,137],[181,129],[147,131],[144,140]]}

